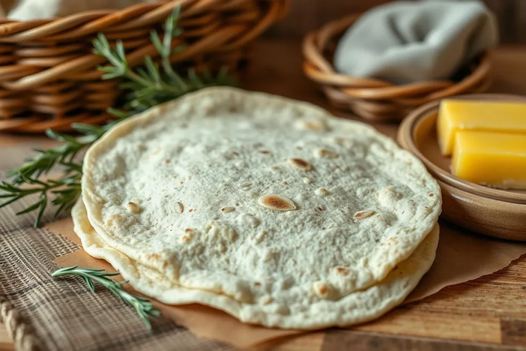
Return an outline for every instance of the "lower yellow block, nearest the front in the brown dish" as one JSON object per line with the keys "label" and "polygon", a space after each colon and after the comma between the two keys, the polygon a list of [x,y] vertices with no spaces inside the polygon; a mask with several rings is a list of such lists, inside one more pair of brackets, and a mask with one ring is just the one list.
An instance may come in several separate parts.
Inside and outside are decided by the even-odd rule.
{"label": "lower yellow block, nearest the front in the brown dish", "polygon": [[526,134],[457,131],[451,171],[472,183],[526,189]]}

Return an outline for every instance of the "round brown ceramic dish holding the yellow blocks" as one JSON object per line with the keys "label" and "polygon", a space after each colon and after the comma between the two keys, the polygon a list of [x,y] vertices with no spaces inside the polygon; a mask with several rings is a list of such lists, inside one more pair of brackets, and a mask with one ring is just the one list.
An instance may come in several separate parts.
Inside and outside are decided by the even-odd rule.
{"label": "round brown ceramic dish holding the yellow blocks", "polygon": [[[478,94],[457,98],[523,101],[514,95]],[[526,240],[526,190],[501,190],[457,178],[450,173],[451,158],[442,156],[436,122],[439,102],[412,112],[398,131],[398,142],[426,165],[437,178],[443,197],[442,217],[478,233]]]}

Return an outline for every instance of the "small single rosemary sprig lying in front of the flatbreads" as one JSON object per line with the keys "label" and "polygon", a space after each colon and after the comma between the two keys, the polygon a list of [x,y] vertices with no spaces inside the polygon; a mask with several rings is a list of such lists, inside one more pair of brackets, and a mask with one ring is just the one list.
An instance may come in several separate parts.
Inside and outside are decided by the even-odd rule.
{"label": "small single rosemary sprig lying in front of the flatbreads", "polygon": [[137,314],[146,324],[148,329],[151,329],[151,323],[148,317],[160,316],[159,311],[154,308],[153,304],[149,302],[148,299],[140,296],[131,295],[123,289],[123,285],[125,285],[128,282],[115,282],[114,280],[108,278],[110,276],[119,275],[118,272],[110,273],[104,272],[104,269],[78,268],[77,266],[73,266],[60,268],[51,274],[52,277],[62,277],[67,275],[76,275],[82,278],[82,280],[84,280],[84,282],[86,282],[86,284],[88,285],[88,288],[91,292],[95,292],[95,285],[93,284],[93,282],[97,282],[105,288],[109,289],[126,304],[135,308]]}

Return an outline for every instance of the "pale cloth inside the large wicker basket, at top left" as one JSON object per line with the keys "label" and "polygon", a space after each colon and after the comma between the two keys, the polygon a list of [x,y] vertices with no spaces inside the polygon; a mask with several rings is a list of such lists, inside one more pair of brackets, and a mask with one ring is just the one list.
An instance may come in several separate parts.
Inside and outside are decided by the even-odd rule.
{"label": "pale cloth inside the large wicker basket, at top left", "polygon": [[7,17],[17,21],[27,21],[29,19],[67,16],[93,9],[125,8],[142,2],[155,1],[156,0],[17,0],[15,8],[8,13]]}

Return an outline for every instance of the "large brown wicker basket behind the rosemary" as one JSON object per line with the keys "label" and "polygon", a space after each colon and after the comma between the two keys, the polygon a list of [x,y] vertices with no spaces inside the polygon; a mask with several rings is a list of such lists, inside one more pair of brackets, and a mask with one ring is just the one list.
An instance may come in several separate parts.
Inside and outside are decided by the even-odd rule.
{"label": "large brown wicker basket behind the rosemary", "polygon": [[[181,6],[174,39],[187,48],[173,56],[178,69],[236,68],[246,44],[288,10],[289,0],[177,0],[122,10],[13,22],[0,19],[0,131],[67,131],[72,122],[100,123],[119,95],[117,79],[102,81],[92,41],[122,39],[130,66],[155,57],[149,34]],[[175,44],[175,43],[174,43]]]}

